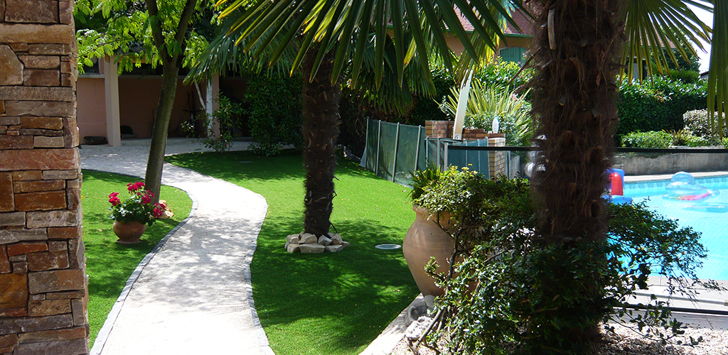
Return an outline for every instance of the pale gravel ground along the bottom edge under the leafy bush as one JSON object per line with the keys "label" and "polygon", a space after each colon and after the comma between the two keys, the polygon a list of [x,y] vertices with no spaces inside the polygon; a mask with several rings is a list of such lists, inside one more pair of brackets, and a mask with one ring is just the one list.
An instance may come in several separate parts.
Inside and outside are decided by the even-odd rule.
{"label": "pale gravel ground along the bottom edge under the leafy bush", "polygon": [[[665,346],[640,335],[616,326],[616,334],[604,332],[604,340],[598,345],[597,355],[728,355],[728,331],[704,328],[686,328],[685,334],[673,338],[674,344]],[[677,345],[678,340],[689,343],[689,337],[703,337],[703,342],[695,347]],[[391,355],[412,355],[406,338],[400,340]],[[435,355],[435,351],[420,347],[420,355]],[[445,354],[445,353],[443,353]]]}

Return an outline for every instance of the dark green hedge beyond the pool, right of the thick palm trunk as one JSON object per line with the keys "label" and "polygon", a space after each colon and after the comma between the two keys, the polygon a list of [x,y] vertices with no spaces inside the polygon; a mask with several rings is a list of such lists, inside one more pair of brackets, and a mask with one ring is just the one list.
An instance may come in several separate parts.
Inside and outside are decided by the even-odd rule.
{"label": "dark green hedge beyond the pool, right of the thick palm trunk", "polygon": [[685,84],[660,76],[641,83],[622,80],[619,92],[617,137],[629,132],[682,129],[685,112],[706,107],[705,81]]}

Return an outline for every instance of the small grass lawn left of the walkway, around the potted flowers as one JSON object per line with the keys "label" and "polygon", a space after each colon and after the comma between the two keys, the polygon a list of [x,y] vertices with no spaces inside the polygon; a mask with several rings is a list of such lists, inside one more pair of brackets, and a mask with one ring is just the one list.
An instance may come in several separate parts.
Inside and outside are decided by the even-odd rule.
{"label": "small grass lawn left of the walkway, around the potted flowers", "polygon": [[162,186],[160,197],[167,200],[175,213],[174,217],[157,220],[154,225],[147,226],[141,243],[119,245],[111,229],[114,221],[108,218],[108,194],[118,192],[119,199],[126,199],[127,183],[135,183],[140,179],[92,170],[84,170],[83,174],[83,241],[86,247],[86,273],[89,275],[88,312],[92,345],[132,271],[159,240],[187,218],[192,200],[178,188]]}

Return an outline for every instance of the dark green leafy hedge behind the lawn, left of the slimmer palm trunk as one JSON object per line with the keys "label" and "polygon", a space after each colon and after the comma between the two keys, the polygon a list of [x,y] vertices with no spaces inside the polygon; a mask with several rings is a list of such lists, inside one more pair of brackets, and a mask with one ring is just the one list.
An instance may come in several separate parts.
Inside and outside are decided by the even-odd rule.
{"label": "dark green leafy hedge behind the lawn, left of the slimmer palm trunk", "polygon": [[256,140],[250,149],[265,156],[280,153],[283,145],[301,145],[301,76],[283,73],[248,75],[245,113]]}

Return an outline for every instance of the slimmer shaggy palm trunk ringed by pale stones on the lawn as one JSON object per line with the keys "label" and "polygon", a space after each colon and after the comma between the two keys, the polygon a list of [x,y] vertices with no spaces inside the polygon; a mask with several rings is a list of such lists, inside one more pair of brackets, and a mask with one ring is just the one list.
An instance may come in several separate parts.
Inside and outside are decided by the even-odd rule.
{"label": "slimmer shaggy palm trunk ringed by pale stones on the lawn", "polygon": [[328,234],[333,210],[333,174],[336,170],[336,138],[339,137],[339,99],[341,84],[332,84],[333,54],[323,58],[316,75],[309,80],[318,52],[314,46],[306,52],[303,73],[301,113],[304,116],[304,166],[306,167],[306,196],[304,232],[321,236]]}

